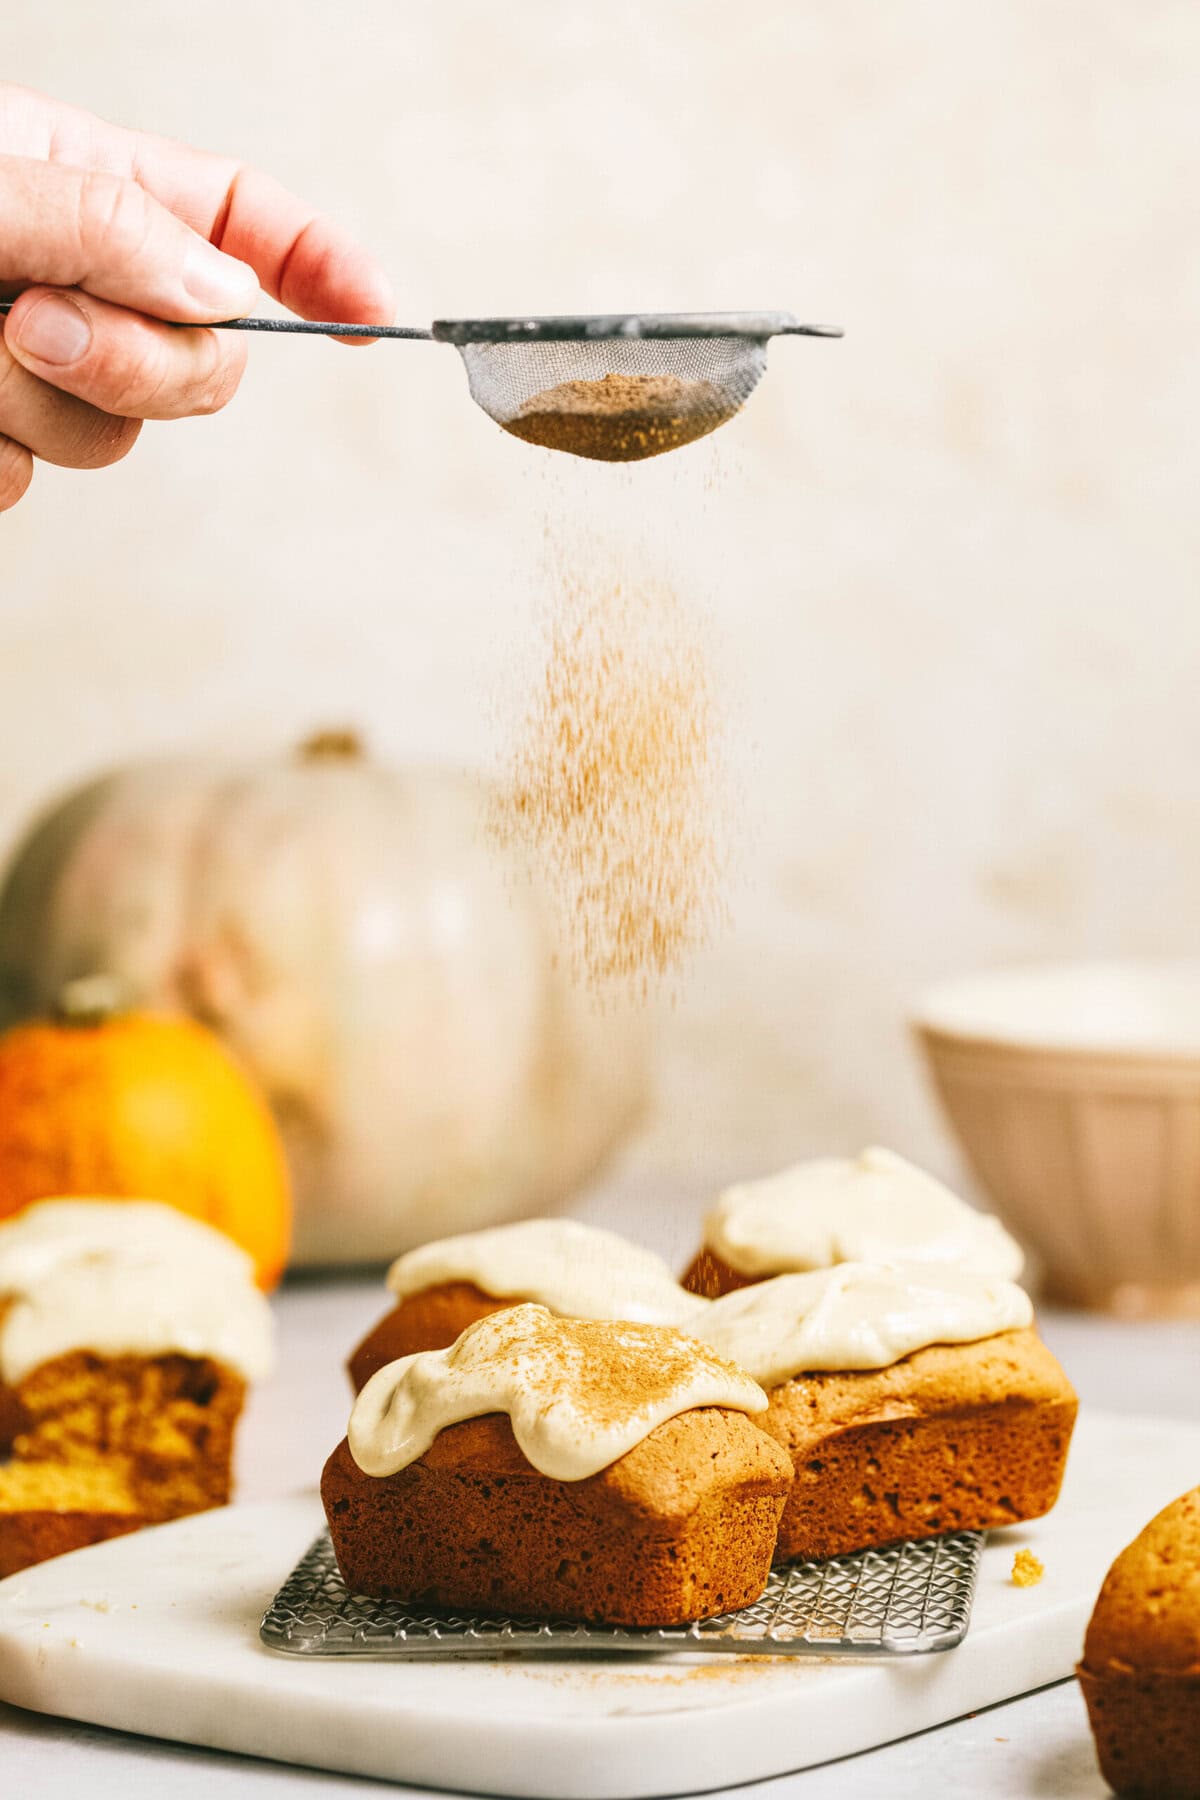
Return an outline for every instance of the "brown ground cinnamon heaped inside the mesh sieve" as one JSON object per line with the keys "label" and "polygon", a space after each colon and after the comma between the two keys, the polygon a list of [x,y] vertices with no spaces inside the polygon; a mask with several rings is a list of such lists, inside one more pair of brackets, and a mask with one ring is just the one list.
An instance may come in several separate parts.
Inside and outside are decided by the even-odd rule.
{"label": "brown ground cinnamon heaped inside the mesh sieve", "polygon": [[637,463],[716,430],[738,409],[712,382],[676,374],[604,374],[533,394],[506,432],[599,463]]}

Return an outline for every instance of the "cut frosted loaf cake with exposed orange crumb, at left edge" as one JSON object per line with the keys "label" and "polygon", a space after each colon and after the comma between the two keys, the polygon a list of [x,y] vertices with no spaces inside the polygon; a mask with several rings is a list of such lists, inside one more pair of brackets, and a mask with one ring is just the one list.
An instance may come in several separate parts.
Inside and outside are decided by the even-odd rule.
{"label": "cut frosted loaf cake with exposed orange crumb, at left edge", "polygon": [[149,1201],[0,1226],[0,1575],[219,1507],[272,1319],[245,1251]]}

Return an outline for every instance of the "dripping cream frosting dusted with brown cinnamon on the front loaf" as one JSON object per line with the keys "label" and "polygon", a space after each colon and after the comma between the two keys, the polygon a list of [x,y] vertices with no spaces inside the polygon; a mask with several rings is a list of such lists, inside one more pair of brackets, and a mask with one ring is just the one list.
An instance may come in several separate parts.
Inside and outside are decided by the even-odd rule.
{"label": "dripping cream frosting dusted with brown cinnamon on the front loaf", "polygon": [[446,1426],[507,1413],[534,1469],[583,1481],[696,1406],[761,1413],[766,1395],[709,1345],[667,1327],[558,1319],[522,1305],[468,1325],[448,1350],[378,1370],[354,1402],[347,1440],[363,1474],[389,1476]]}

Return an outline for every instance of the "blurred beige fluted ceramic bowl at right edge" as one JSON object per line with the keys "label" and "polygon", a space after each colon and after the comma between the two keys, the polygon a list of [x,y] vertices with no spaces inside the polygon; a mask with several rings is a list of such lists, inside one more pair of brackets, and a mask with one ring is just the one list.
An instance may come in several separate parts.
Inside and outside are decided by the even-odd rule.
{"label": "blurred beige fluted ceramic bowl at right edge", "polygon": [[1047,1298],[1200,1316],[1200,961],[966,976],[912,1026]]}

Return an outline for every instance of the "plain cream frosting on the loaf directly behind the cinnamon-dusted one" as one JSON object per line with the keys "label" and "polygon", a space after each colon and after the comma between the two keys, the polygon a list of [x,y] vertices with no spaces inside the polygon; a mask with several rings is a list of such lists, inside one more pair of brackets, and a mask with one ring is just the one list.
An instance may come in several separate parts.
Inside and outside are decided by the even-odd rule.
{"label": "plain cream frosting on the loaf directly behind the cinnamon-dusted one", "polygon": [[441,1238],[399,1256],[387,1274],[398,1300],[443,1282],[471,1282],[495,1300],[536,1300],[572,1319],[678,1325],[705,1305],[653,1251],[576,1219],[525,1219]]}

